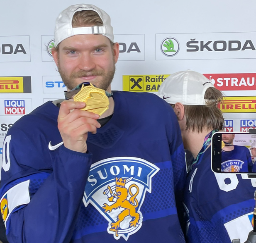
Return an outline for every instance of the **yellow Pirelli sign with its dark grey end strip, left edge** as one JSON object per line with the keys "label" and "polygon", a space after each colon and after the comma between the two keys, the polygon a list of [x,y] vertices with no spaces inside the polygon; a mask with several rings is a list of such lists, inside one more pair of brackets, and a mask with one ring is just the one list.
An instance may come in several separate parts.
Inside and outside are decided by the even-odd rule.
{"label": "yellow Pirelli sign with its dark grey end strip, left edge", "polygon": [[0,77],[0,93],[31,93],[31,77]]}

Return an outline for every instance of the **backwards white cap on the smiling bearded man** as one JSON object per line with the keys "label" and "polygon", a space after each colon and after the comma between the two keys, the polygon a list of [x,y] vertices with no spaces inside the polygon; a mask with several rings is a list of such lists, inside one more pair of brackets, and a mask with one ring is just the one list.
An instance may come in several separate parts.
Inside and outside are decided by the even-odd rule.
{"label": "backwards white cap on the smiling bearded man", "polygon": [[[76,12],[83,10],[93,10],[102,19],[103,26],[91,27],[72,27],[72,19]],[[83,34],[101,34],[114,42],[113,27],[111,26],[110,16],[100,8],[91,4],[77,4],[63,10],[56,19],[54,31],[55,47],[68,37]]]}

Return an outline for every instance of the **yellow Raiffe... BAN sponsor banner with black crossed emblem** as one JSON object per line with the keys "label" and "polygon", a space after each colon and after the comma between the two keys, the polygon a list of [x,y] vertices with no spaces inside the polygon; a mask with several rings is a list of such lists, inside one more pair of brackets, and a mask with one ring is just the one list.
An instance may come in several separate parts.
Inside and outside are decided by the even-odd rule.
{"label": "yellow Raiffe... BAN sponsor banner with black crossed emblem", "polygon": [[168,76],[170,74],[123,75],[123,91],[157,92]]}

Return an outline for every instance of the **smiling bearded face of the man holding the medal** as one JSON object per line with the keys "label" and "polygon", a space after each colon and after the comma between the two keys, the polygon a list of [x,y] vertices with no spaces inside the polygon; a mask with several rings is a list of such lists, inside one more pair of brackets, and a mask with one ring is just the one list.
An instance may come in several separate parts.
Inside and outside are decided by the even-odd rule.
{"label": "smiling bearded face of the man holding the medal", "polygon": [[110,91],[118,55],[118,43],[112,47],[107,37],[94,34],[69,37],[59,44],[59,53],[53,51],[54,61],[68,90],[82,82],[90,82]]}

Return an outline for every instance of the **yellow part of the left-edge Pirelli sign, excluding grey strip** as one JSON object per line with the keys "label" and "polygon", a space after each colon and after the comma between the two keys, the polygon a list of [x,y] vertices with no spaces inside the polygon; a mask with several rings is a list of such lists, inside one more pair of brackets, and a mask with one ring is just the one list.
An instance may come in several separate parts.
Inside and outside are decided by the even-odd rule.
{"label": "yellow part of the left-edge Pirelli sign, excluding grey strip", "polygon": [[23,77],[0,77],[0,93],[24,93]]}

